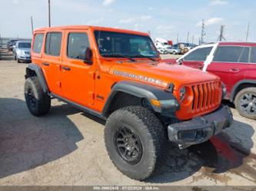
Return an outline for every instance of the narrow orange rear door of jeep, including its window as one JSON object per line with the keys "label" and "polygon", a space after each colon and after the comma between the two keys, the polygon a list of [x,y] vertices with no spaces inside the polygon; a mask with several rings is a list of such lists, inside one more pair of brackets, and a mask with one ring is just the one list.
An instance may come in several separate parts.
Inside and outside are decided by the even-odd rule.
{"label": "narrow orange rear door of jeep, including its window", "polygon": [[61,48],[62,31],[48,32],[45,38],[45,50],[42,54],[42,69],[45,72],[45,78],[49,90],[54,94],[60,94],[60,66],[61,66]]}

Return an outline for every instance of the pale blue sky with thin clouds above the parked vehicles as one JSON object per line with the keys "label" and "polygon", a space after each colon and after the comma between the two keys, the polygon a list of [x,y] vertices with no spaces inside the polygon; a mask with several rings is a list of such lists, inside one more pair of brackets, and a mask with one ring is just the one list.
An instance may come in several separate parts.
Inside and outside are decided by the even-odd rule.
{"label": "pale blue sky with thin clouds above the parked vehicles", "polygon": [[[256,41],[256,1],[251,0],[51,0],[52,26],[98,25],[150,31],[151,38],[198,43],[204,19],[204,41],[224,38]],[[29,38],[48,26],[48,0],[0,0],[2,37]],[[189,35],[188,35],[189,32]]]}

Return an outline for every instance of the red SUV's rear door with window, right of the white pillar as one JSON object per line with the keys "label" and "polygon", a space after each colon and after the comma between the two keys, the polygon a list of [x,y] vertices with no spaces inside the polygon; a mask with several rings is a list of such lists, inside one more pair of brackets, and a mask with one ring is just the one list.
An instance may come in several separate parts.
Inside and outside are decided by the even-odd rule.
{"label": "red SUV's rear door with window, right of the white pillar", "polygon": [[249,47],[244,46],[219,46],[214,53],[207,71],[221,77],[227,87],[227,97],[238,81],[244,80],[248,68]]}

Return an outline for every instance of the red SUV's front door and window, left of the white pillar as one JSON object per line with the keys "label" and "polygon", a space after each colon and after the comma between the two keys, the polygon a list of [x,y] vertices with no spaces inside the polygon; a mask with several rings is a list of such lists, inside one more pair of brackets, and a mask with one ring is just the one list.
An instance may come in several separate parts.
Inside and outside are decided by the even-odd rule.
{"label": "red SUV's front door and window, left of the white pillar", "polygon": [[202,69],[204,68],[204,61],[211,53],[213,46],[196,48],[191,51],[182,60],[182,64],[191,68]]}

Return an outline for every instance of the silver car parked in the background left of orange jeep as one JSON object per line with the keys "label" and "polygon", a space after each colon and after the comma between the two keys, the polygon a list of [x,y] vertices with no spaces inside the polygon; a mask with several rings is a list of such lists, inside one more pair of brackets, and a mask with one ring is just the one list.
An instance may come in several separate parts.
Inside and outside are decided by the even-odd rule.
{"label": "silver car parked in the background left of orange jeep", "polygon": [[15,61],[18,63],[31,62],[31,41],[17,41],[14,48]]}

